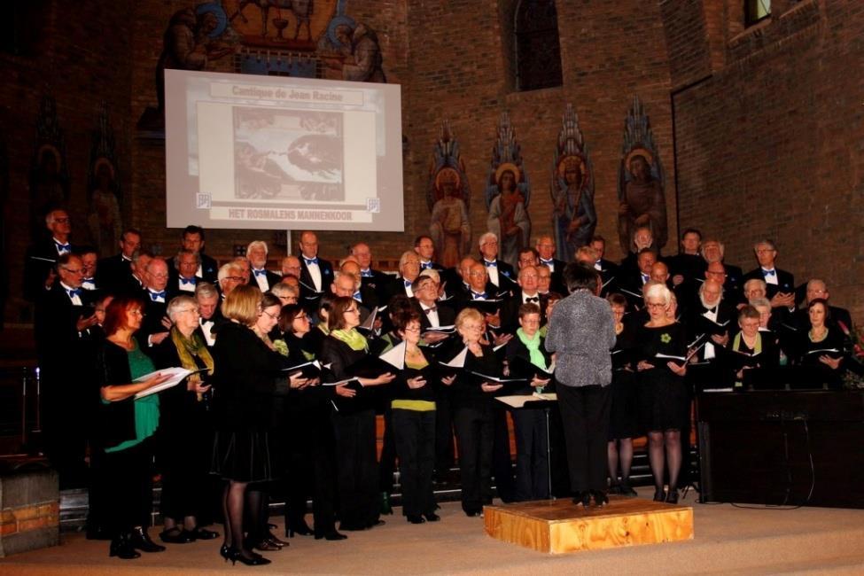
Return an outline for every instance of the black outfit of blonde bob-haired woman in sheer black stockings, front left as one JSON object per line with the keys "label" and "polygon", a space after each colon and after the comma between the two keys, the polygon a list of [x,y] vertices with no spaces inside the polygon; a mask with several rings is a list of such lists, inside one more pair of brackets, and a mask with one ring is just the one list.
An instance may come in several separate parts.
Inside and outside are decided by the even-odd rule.
{"label": "black outfit of blonde bob-haired woman in sheer black stockings, front left", "polygon": [[216,434],[211,471],[223,479],[260,482],[282,471],[270,447],[275,396],[288,393],[284,359],[252,329],[226,323],[214,346],[213,407]]}

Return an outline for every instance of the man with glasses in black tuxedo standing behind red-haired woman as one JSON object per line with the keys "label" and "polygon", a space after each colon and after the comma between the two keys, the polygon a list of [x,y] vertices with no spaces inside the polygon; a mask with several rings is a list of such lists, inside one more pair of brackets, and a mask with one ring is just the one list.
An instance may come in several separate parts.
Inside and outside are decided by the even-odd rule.
{"label": "man with glasses in black tuxedo standing behind red-haired woman", "polygon": [[[58,257],[57,282],[36,302],[35,340],[45,453],[60,487],[86,486],[84,465],[88,406],[95,397],[82,366],[82,333],[97,323],[90,291],[82,290],[79,256]],[[75,367],[81,367],[81,370]]]}

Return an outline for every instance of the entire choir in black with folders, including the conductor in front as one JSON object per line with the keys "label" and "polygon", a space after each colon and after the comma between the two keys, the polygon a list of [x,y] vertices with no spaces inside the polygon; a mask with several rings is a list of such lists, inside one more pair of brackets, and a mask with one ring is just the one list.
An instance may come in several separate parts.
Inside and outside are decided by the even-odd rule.
{"label": "entire choir in black with folders, including the conductor in front", "polygon": [[849,313],[824,281],[778,269],[769,240],[743,274],[697,230],[669,257],[635,230],[619,264],[597,236],[574,262],[540,237],[511,265],[486,233],[454,269],[421,236],[392,275],[364,242],[334,266],[308,231],[273,270],[261,241],[218,266],[197,226],[171,259],[144,252],[137,230],[114,255],[71,244],[63,210],[46,226],[24,277],[44,450],[61,487],[89,487],[88,534],[121,558],[165,549],[147,532],[156,473],[161,541],[218,538],[204,526],[222,518],[222,557],[249,565],[286,545],[272,494],[286,536],[338,541],[384,524],[395,470],[408,522],[439,521],[433,485],[456,461],[471,517],[493,478],[505,502],[603,506],[635,495],[633,440],[646,436],[654,499],[677,502],[696,387],[791,372],[836,386],[857,366]]}

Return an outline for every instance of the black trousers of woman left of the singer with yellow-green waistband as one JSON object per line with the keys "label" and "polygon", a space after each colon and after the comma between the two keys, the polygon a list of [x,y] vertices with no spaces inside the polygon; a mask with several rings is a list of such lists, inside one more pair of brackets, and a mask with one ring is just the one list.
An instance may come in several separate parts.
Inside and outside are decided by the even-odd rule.
{"label": "black trousers of woman left of the singer with yellow-green waistband", "polygon": [[346,528],[378,522],[378,455],[375,410],[333,415],[336,434],[339,519]]}

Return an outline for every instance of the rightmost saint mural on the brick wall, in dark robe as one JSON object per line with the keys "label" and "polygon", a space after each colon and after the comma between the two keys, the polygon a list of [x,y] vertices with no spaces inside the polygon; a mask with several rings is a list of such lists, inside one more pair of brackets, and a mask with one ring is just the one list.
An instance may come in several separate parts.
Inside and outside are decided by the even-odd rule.
{"label": "rightmost saint mural on the brick wall, in dark robe", "polygon": [[621,250],[634,250],[633,232],[648,226],[660,250],[669,237],[666,223],[666,173],[660,163],[648,114],[639,97],[624,121],[624,145],[618,178],[618,236]]}

